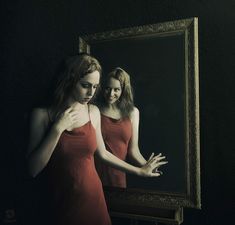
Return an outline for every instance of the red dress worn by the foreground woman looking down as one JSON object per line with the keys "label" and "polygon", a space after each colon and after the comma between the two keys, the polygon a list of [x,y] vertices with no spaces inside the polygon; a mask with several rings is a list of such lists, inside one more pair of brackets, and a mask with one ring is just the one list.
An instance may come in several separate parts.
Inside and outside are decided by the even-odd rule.
{"label": "red dress worn by the foreground woman looking down", "polygon": [[94,165],[96,148],[90,121],[62,133],[47,167],[55,225],[111,225]]}

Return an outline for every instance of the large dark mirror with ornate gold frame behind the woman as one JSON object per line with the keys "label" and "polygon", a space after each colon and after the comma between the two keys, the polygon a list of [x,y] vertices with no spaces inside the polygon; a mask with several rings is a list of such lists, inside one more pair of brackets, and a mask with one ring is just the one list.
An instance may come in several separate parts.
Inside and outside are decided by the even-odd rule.
{"label": "large dark mirror with ornate gold frame behind the woman", "polygon": [[79,52],[95,56],[103,73],[121,67],[130,74],[141,153],[169,161],[159,178],[128,175],[126,189],[106,188],[111,211],[200,208],[198,19],[82,35]]}

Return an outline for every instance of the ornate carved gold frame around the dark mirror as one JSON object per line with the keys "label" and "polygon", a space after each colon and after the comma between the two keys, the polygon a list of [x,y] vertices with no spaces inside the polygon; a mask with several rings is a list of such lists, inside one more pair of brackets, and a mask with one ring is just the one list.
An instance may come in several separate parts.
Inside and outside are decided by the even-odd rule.
{"label": "ornate carved gold frame around the dark mirror", "polygon": [[[185,170],[187,191],[181,194],[158,192],[157,190],[106,188],[106,199],[113,215],[158,218],[158,221],[179,224],[182,222],[182,207],[197,209],[201,207],[198,19],[189,18],[79,36],[79,52],[90,53],[92,45],[99,42],[119,39],[130,40],[149,35],[166,37],[178,34],[183,34],[185,43],[185,129],[187,131],[185,134]],[[172,215],[171,218],[170,215]]]}

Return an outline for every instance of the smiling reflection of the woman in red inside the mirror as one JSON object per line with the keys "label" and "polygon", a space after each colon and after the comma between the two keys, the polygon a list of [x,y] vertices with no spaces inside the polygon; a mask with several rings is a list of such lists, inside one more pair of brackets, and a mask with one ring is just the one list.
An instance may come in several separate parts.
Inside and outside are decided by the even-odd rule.
{"label": "smiling reflection of the woman in red inside the mirror", "polygon": [[[147,161],[138,146],[139,110],[134,106],[130,76],[126,71],[118,67],[107,75],[98,105],[106,149],[124,161],[128,155],[137,165],[145,165]],[[158,155],[158,159],[164,158]],[[125,172],[99,160],[96,160],[96,167],[104,186],[126,187]],[[160,174],[157,169],[155,172]]]}

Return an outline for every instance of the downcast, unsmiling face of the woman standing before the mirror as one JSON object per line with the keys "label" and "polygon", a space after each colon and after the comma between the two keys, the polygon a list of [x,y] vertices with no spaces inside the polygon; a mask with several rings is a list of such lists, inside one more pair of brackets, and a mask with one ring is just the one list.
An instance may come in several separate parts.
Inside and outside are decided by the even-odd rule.
{"label": "downcast, unsmiling face of the woman standing before the mirror", "polygon": [[85,75],[77,83],[76,93],[74,94],[75,100],[81,104],[87,104],[94,96],[99,83],[100,73],[97,70]]}

